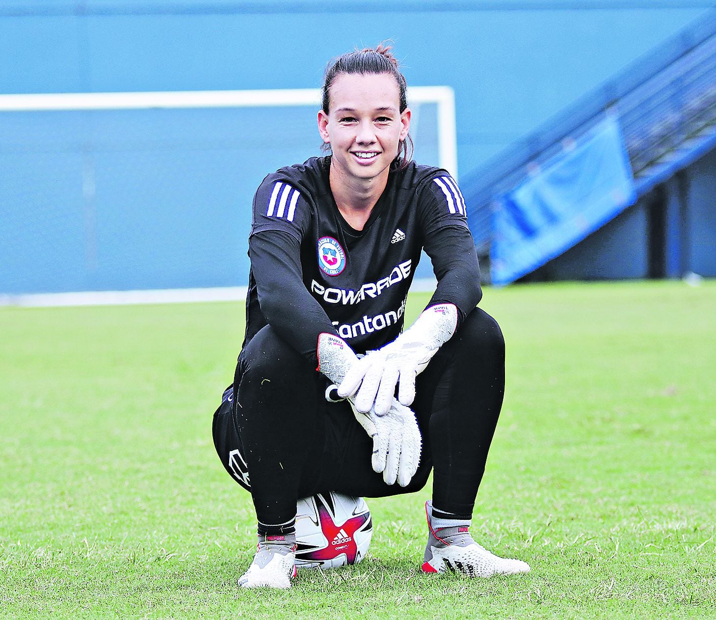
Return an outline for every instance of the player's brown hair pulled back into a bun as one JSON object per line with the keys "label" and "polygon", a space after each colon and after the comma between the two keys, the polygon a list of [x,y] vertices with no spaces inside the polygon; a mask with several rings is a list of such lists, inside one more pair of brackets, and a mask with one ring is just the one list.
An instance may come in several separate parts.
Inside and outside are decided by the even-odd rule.
{"label": "player's brown hair pulled back into a bun", "polygon": [[[400,113],[407,108],[407,84],[405,76],[400,72],[400,63],[391,52],[392,47],[383,43],[378,47],[366,47],[354,49],[337,58],[334,58],[326,67],[326,75],[323,81],[322,102],[323,111],[328,114],[331,100],[331,86],[340,74],[382,74],[387,73],[395,77],[400,91]],[[328,147],[328,145],[324,145]],[[400,140],[396,163],[399,168],[405,168],[412,158],[412,139],[410,135],[405,140]]]}

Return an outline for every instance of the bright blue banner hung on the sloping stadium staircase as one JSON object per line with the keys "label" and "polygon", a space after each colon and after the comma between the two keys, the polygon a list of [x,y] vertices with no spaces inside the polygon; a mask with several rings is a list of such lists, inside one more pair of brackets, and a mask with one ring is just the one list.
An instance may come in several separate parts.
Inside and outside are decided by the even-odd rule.
{"label": "bright blue banner hung on the sloping stadium staircase", "polygon": [[493,284],[510,284],[530,273],[636,200],[619,122],[608,117],[496,199]]}

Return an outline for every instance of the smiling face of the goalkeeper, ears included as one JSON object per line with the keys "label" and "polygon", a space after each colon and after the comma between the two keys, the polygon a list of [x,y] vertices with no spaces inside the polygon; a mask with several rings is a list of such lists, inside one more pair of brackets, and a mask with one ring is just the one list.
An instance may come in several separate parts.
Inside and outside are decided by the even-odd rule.
{"label": "smiling face of the goalkeeper, ears included", "polygon": [[332,170],[387,180],[410,128],[410,110],[400,112],[400,89],[391,74],[339,74],[331,84],[329,113],[319,111],[318,126],[331,145]]}

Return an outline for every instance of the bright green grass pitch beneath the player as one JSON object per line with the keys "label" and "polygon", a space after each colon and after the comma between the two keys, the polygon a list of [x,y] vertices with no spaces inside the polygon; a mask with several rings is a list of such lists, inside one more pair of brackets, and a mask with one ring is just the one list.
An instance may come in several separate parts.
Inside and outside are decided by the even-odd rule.
{"label": "bright green grass pitch beneath the player", "polygon": [[253,512],[211,440],[243,304],[0,309],[0,616],[716,617],[716,283],[481,305],[508,384],[472,531],[532,573],[420,573],[425,490],[369,500],[369,558],[288,592],[236,587]]}

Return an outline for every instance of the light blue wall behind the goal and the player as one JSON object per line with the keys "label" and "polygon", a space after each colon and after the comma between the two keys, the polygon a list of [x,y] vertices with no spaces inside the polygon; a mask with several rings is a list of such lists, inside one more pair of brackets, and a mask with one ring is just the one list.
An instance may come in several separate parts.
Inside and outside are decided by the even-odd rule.
{"label": "light blue wall behind the goal and the player", "polygon": [[[0,92],[318,87],[392,38],[455,88],[466,173],[710,4],[9,0]],[[245,284],[253,190],[318,145],[305,109],[0,113],[0,292]]]}

